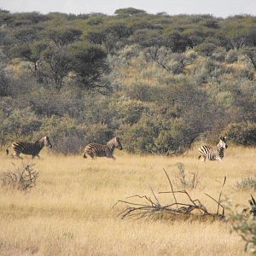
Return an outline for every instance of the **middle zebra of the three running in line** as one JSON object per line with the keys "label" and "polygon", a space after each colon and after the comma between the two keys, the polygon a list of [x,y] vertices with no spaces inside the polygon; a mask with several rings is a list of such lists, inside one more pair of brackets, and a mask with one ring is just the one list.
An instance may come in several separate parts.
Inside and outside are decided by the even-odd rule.
{"label": "middle zebra of the three running in line", "polygon": [[113,149],[119,148],[123,149],[122,144],[120,143],[119,137],[113,137],[106,145],[90,143],[85,146],[83,157],[86,157],[86,154],[90,155],[92,159],[96,159],[96,157],[108,157],[115,160],[113,156]]}

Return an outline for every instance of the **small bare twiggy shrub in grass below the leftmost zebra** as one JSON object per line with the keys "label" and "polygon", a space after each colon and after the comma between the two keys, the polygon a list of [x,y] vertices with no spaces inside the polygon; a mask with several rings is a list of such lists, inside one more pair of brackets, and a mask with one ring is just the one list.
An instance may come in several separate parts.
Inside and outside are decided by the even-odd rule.
{"label": "small bare twiggy shrub in grass below the leftmost zebra", "polygon": [[32,189],[38,179],[38,171],[34,170],[34,165],[22,164],[21,167],[17,167],[13,164],[13,166],[14,170],[3,172],[1,175],[1,185],[11,189]]}

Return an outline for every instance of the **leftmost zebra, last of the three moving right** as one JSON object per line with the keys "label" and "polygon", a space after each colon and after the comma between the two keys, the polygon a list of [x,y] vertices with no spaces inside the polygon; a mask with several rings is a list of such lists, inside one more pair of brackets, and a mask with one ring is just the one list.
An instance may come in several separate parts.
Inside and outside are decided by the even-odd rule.
{"label": "leftmost zebra, last of the three moving right", "polygon": [[11,147],[14,151],[14,153],[12,155],[13,157],[16,156],[16,157],[22,159],[20,154],[30,154],[30,155],[32,155],[32,159],[35,156],[40,158],[39,153],[42,150],[42,148],[44,148],[44,146],[52,148],[52,144],[50,143],[48,136],[42,137],[35,143],[14,142],[6,148],[6,154],[9,154],[8,148]]}

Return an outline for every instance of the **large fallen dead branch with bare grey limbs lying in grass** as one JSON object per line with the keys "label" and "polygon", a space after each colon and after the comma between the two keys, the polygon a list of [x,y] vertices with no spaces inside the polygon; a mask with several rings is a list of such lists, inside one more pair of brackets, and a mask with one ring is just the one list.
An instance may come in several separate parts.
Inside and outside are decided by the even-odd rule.
{"label": "large fallen dead branch with bare grey limbs lying in grass", "polygon": [[[165,169],[164,172],[166,173],[166,177],[168,183],[170,184],[171,191],[161,191],[158,194],[172,194],[172,203],[168,205],[161,205],[159,198],[154,193],[154,190],[149,186],[151,193],[153,195],[152,198],[148,195],[132,195],[127,197],[126,199],[137,198],[137,201],[139,202],[134,202],[131,200],[117,201],[117,203],[113,207],[115,207],[119,203],[125,204],[125,209],[122,212],[119,212],[118,216],[121,218],[149,218],[156,216],[163,217],[166,216],[167,214],[171,216],[171,218],[174,217],[175,219],[187,219],[190,217],[195,217],[197,219],[224,218],[224,206],[220,203],[220,201],[226,177],[224,177],[224,183],[218,196],[218,201],[215,200],[211,195],[206,194],[208,197],[210,197],[213,201],[215,201],[218,204],[217,212],[211,213],[207,210],[207,207],[205,207],[199,199],[192,199],[192,197],[186,190],[174,190],[171,179],[168,176]],[[177,201],[177,195],[179,194],[183,194],[186,196],[186,202]],[[223,209],[221,214],[219,213],[219,207],[222,207]]]}

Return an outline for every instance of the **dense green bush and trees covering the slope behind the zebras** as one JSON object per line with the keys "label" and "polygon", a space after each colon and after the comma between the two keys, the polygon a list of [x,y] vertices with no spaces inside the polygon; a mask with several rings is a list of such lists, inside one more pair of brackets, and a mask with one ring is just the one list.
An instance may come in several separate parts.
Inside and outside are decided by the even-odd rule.
{"label": "dense green bush and trees covering the slope behind the zebras", "polygon": [[0,138],[55,150],[122,138],[179,154],[220,134],[256,144],[256,17],[0,10]]}

